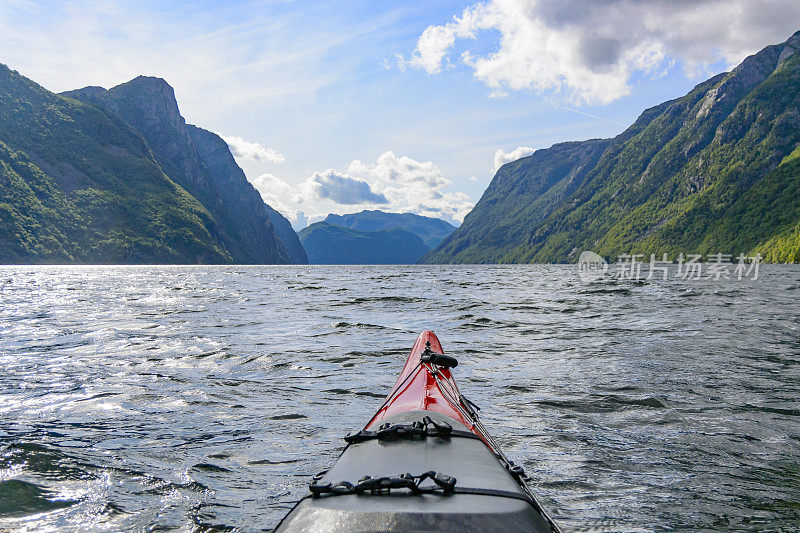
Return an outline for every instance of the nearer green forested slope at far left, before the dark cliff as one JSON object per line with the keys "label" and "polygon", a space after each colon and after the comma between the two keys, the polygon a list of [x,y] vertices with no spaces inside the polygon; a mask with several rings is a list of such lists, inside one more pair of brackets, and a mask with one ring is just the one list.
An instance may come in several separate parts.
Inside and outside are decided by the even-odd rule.
{"label": "nearer green forested slope at far left, before the dark cliff", "polygon": [[133,128],[0,65],[1,262],[229,262]]}

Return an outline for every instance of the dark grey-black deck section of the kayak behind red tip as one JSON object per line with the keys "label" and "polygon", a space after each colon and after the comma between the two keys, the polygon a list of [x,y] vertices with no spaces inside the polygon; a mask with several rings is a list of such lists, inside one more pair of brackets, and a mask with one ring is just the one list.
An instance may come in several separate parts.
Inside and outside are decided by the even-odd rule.
{"label": "dark grey-black deck section of the kayak behind red tip", "polygon": [[[425,416],[439,424],[446,422],[454,430],[468,430],[457,420],[431,411],[407,411],[385,422],[410,424]],[[309,496],[292,509],[276,531],[554,531],[538,504],[529,499],[520,482],[480,439],[373,439],[350,444],[318,483],[356,483],[364,476],[418,475],[428,471],[456,478],[457,487],[496,495],[392,491]]]}

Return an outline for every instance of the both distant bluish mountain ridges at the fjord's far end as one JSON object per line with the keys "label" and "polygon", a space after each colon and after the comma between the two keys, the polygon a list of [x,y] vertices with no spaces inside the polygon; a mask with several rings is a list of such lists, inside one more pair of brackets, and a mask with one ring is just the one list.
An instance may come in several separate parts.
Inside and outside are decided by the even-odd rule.
{"label": "both distant bluish mountain ridges at the fjord's far end", "polygon": [[413,264],[455,227],[412,213],[328,215],[300,231],[311,264]]}

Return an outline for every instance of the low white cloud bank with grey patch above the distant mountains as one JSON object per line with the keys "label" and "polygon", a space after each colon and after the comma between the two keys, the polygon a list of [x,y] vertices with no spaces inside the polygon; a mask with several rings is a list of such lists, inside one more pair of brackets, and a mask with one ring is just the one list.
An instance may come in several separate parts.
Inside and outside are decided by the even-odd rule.
{"label": "low white cloud bank with grey patch above the distant mountains", "polygon": [[314,172],[299,184],[272,174],[248,180],[296,229],[328,213],[361,209],[417,213],[458,224],[475,205],[467,194],[448,190],[452,182],[431,161],[398,157],[393,152],[383,153],[370,164],[354,159],[344,171]]}

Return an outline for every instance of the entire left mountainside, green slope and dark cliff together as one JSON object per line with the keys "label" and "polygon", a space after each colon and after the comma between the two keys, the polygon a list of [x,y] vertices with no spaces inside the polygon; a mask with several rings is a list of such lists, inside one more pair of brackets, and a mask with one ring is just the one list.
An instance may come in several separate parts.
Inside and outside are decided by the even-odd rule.
{"label": "entire left mountainside, green slope and dark cliff together", "polygon": [[164,80],[56,95],[0,65],[0,262],[305,262],[284,222]]}

